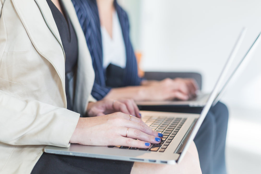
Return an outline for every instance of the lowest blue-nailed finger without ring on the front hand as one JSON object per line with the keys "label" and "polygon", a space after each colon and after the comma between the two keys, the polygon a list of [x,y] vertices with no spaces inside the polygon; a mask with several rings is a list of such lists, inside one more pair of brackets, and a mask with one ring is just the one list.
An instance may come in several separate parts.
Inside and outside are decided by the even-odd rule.
{"label": "lowest blue-nailed finger without ring on the front hand", "polygon": [[134,140],[132,138],[126,138],[126,137],[122,137],[122,136],[118,136],[115,139],[115,142],[117,142],[117,145],[119,145],[119,146],[137,147],[137,148],[144,148],[144,149],[149,148],[151,145],[151,143],[149,143],[149,142],[138,141],[138,140]]}

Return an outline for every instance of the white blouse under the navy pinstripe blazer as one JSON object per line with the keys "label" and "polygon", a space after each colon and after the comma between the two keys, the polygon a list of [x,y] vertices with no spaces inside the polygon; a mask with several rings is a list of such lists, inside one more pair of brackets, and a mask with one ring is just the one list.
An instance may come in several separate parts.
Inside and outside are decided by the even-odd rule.
{"label": "white blouse under the navy pinstripe blazer", "polygon": [[114,64],[121,68],[126,67],[126,48],[122,35],[120,21],[117,12],[112,14],[112,38],[106,28],[101,26],[102,49],[103,49],[103,68]]}

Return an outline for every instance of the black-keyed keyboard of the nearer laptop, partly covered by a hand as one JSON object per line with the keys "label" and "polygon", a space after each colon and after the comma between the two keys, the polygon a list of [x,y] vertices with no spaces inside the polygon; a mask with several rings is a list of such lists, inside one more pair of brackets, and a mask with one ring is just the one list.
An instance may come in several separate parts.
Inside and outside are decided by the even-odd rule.
{"label": "black-keyed keyboard of the nearer laptop, partly covered by a hand", "polygon": [[[145,117],[146,119],[146,117]],[[159,144],[151,144],[149,148],[136,148],[127,146],[108,146],[109,148],[118,147],[120,149],[132,149],[140,151],[164,152],[168,148],[171,141],[175,138],[177,132],[185,123],[186,118],[169,118],[169,117],[149,117],[145,123],[152,129],[163,134]]]}

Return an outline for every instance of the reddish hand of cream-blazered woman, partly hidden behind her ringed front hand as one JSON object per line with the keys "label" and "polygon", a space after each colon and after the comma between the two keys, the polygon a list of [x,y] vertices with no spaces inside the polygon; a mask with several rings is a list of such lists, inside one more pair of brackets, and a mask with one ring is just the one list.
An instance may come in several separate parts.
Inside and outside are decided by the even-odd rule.
{"label": "reddish hand of cream-blazered woman, partly hidden behind her ringed front hand", "polygon": [[133,99],[103,99],[96,103],[90,102],[87,107],[87,116],[102,116],[114,112],[123,112],[140,118],[139,108]]}

